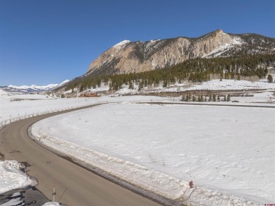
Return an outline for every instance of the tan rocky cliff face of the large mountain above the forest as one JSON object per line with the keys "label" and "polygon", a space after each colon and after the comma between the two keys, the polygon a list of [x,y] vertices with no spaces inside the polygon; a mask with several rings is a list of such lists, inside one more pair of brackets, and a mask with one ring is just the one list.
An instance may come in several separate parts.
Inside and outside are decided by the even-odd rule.
{"label": "tan rocky cliff face of the large mountain above the forest", "polygon": [[124,40],[94,60],[87,74],[138,73],[172,66],[196,57],[211,58],[274,52],[273,38],[254,34],[232,35],[222,30],[197,38],[177,37],[148,42]]}

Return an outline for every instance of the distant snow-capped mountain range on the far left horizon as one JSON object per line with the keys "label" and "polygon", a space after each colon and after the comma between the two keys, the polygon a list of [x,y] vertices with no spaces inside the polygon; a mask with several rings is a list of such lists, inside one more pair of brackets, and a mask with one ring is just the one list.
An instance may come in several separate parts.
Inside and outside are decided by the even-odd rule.
{"label": "distant snow-capped mountain range on the far left horizon", "polygon": [[37,85],[23,85],[23,86],[15,86],[15,85],[8,85],[0,87],[2,90],[6,90],[8,92],[49,92],[51,90],[54,90],[58,87],[61,87],[62,85],[65,85],[70,80],[65,80],[62,83],[59,84],[50,84],[47,86],[37,86]]}

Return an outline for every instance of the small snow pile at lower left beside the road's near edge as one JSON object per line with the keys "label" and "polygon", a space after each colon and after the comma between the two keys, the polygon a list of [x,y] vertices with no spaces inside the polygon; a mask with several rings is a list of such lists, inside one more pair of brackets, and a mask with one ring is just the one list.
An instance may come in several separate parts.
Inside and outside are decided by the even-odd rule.
{"label": "small snow pile at lower left beside the road's near edge", "polygon": [[22,165],[15,160],[0,160],[0,194],[8,190],[35,185],[36,181],[20,171]]}

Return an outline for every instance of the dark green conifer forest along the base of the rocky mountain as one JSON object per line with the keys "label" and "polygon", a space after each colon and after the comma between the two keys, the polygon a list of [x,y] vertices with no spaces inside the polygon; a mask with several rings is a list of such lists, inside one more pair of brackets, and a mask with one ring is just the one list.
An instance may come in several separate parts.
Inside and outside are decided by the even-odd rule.
{"label": "dark green conifer forest along the base of the rocky mountain", "polygon": [[167,87],[170,84],[190,80],[194,83],[211,79],[211,75],[219,78],[240,80],[241,77],[257,76],[264,78],[267,67],[275,62],[275,54],[257,54],[241,57],[218,57],[212,59],[196,58],[166,68],[157,68],[142,73],[125,73],[113,75],[86,76],[72,80],[65,90],[79,88],[80,92],[90,88],[100,87],[102,83],[109,85],[110,90],[119,90],[123,85],[129,89],[134,84],[139,89],[147,86]]}

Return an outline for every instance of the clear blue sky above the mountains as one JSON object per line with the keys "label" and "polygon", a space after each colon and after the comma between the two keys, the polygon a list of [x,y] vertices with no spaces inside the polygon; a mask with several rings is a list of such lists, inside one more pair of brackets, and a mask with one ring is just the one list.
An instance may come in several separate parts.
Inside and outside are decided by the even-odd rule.
{"label": "clear blue sky above the mountains", "polygon": [[73,79],[122,40],[216,29],[275,37],[274,13],[274,0],[0,0],[0,85]]}

